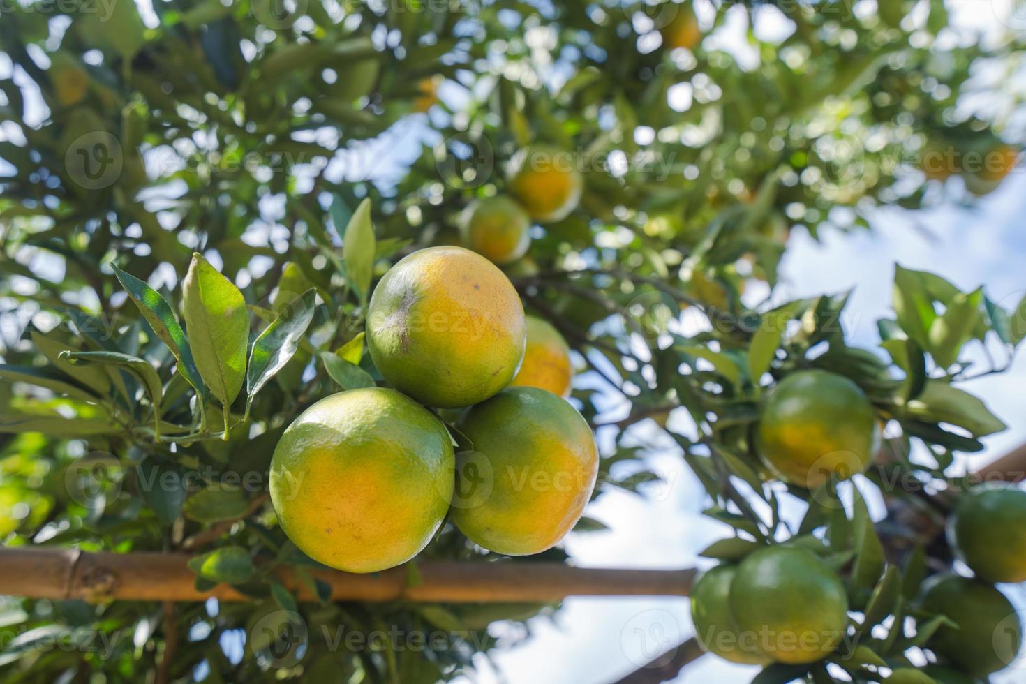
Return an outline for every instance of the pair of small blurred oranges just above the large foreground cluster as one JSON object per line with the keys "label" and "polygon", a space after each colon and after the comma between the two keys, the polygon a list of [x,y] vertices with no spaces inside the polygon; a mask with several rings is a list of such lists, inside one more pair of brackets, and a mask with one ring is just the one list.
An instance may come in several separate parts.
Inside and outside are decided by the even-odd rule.
{"label": "pair of small blurred oranges just above the large foreground cluster", "polygon": [[515,261],[530,245],[530,222],[565,218],[581,200],[584,180],[573,154],[534,146],[513,159],[511,195],[496,195],[468,207],[463,244],[499,265]]}

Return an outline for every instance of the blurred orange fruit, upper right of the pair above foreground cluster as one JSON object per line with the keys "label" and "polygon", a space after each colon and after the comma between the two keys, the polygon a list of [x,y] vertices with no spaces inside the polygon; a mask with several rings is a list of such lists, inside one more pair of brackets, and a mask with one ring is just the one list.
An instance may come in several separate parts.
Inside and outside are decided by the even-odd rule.
{"label": "blurred orange fruit, upper right of the pair above foreground cluster", "polygon": [[584,178],[573,153],[534,146],[513,160],[509,188],[531,218],[547,223],[565,218],[577,208]]}

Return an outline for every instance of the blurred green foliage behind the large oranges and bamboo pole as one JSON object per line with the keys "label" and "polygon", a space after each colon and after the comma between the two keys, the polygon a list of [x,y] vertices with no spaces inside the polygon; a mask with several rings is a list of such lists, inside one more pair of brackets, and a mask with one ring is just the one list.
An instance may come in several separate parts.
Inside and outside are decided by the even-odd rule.
{"label": "blurred green foliage behind the large oranges and bamboo pole", "polygon": [[[745,30],[744,58],[717,40],[728,23],[767,11],[784,30]],[[1005,365],[1026,335],[1022,307],[899,271],[896,317],[880,326],[889,354],[873,354],[844,345],[843,295],[780,303],[773,288],[792,230],[864,230],[880,205],[972,202],[993,190],[1024,122],[1021,93],[993,83],[1021,78],[1022,48],[1021,34],[985,43],[949,26],[943,0],[5,4],[0,538],[241,548],[260,571],[237,582],[256,599],[246,605],[8,601],[0,623],[18,636],[5,640],[0,680],[433,682],[473,670],[472,656],[497,645],[490,622],[557,608],[324,602],[303,607],[309,638],[287,658],[244,638],[266,615],[299,610],[267,570],[311,562],[275,525],[260,476],[291,418],[338,390],[318,355],[362,330],[342,239],[353,211],[370,198],[380,276],[413,249],[458,243],[466,208],[504,192],[528,145],[569,151],[585,178],[580,206],[534,227],[507,273],[528,313],[574,350],[571,401],[603,449],[596,495],[652,482],[643,454],[652,431],[665,432],[706,484],[714,517],[740,530],[754,518],[773,537],[783,528],[766,511],[808,492],[763,483],[748,432],[764,373],[807,367],[855,379],[891,421],[887,467],[943,488],[953,452],[979,450],[1001,427],[951,383]],[[190,425],[195,398],[112,266],[176,307],[194,251],[242,290],[253,335],[288,293],[314,287],[320,306],[248,415],[244,400],[232,407],[230,440],[176,440],[172,428],[155,441],[142,379],[60,355],[144,359],[159,373],[159,417]],[[946,311],[971,325],[938,339],[930,330]],[[990,368],[960,363],[974,341],[1004,356]],[[368,359],[350,360],[380,379]],[[626,417],[603,415],[618,401]],[[640,423],[643,435],[631,430]],[[925,461],[909,458],[913,440]],[[140,484],[168,473],[181,487]],[[215,486],[253,474],[248,488]],[[753,497],[768,509],[752,510]],[[802,531],[826,524],[811,511]],[[944,512],[923,515],[929,531],[886,540],[898,560],[935,539]],[[580,529],[598,527],[585,519]],[[740,553],[727,546],[711,555]],[[425,557],[499,560],[448,525]],[[935,569],[951,562],[943,545],[931,558]],[[870,592],[877,577],[862,579]],[[340,651],[315,629],[338,623],[450,637],[423,653]],[[123,638],[109,649],[40,647],[97,631]],[[505,631],[498,645],[528,631]]]}

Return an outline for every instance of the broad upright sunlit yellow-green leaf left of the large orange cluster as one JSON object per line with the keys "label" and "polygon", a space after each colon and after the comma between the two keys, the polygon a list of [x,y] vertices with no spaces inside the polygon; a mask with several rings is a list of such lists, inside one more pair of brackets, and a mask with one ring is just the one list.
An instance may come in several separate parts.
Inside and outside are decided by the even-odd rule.
{"label": "broad upright sunlit yellow-green leaf left of the large orange cluster", "polygon": [[249,337],[246,301],[242,292],[197,252],[182,290],[196,367],[213,396],[227,407],[245,379]]}

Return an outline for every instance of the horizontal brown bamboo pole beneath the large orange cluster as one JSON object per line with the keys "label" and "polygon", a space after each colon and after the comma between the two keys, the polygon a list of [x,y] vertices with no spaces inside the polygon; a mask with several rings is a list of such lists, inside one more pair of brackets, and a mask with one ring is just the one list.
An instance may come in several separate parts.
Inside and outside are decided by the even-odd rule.
{"label": "horizontal brown bamboo pole beneath the large orange cluster", "polygon": [[[98,602],[249,601],[229,585],[195,587],[186,554],[89,553],[75,550],[0,549],[0,593]],[[567,596],[687,596],[695,571],[578,568],[559,563],[418,564],[420,580],[405,567],[376,574],[309,568],[331,588],[334,601],[409,600],[444,603],[544,603]],[[301,601],[315,600],[287,567],[275,574]]]}

